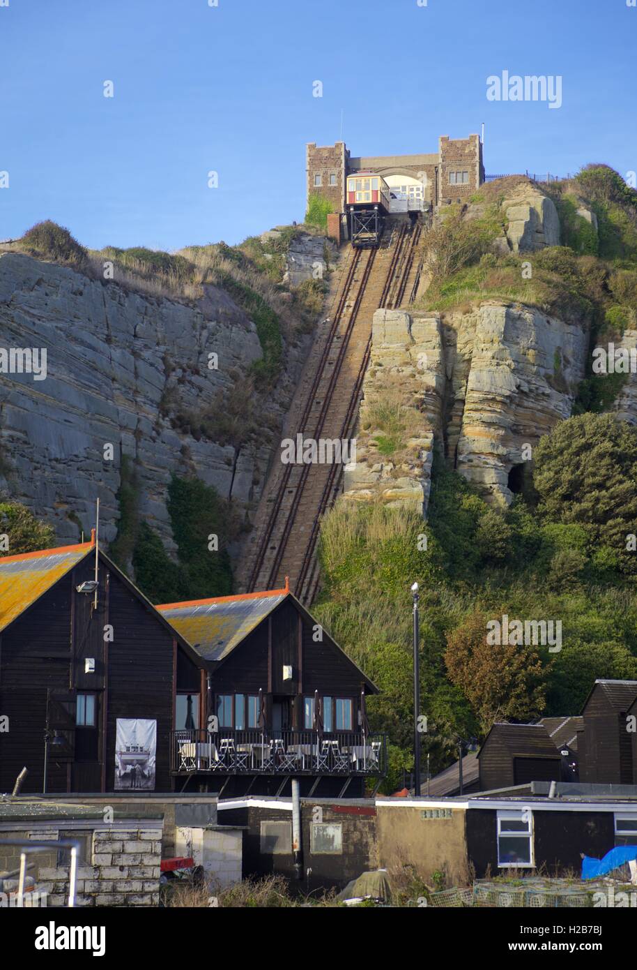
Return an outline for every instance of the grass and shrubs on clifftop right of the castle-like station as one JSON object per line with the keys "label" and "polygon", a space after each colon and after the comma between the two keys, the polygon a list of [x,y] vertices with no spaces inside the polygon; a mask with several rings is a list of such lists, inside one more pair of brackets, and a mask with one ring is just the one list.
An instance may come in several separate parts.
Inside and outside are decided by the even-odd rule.
{"label": "grass and shrubs on clifftop right of the castle-like station", "polygon": [[[471,200],[483,207],[479,218],[456,208],[430,232],[431,282],[416,308],[469,312],[483,301],[504,301],[583,327],[591,346],[619,341],[637,327],[637,192],[605,165],[542,184],[557,206],[563,244],[527,253],[493,251],[502,203],[524,182],[529,179],[512,177],[482,185]],[[595,214],[598,233],[578,214],[582,209]],[[589,356],[576,413],[608,408],[625,382],[623,375],[593,375],[591,368]]]}

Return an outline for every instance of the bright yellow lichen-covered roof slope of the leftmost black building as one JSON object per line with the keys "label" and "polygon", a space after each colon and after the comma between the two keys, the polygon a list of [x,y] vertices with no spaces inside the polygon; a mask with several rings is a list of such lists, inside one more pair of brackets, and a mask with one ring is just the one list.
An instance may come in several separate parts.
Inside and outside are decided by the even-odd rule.
{"label": "bright yellow lichen-covered roof slope of the leftmost black building", "polygon": [[94,548],[83,542],[0,559],[0,631]]}

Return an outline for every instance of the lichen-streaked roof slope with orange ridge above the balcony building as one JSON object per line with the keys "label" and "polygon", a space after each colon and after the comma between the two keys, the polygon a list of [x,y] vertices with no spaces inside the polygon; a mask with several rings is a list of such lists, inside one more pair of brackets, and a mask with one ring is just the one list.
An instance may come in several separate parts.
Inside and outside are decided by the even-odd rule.
{"label": "lichen-streaked roof slope with orange ridge above the balcony building", "polygon": [[157,609],[201,657],[221,661],[288,596],[286,586],[266,593],[165,603]]}

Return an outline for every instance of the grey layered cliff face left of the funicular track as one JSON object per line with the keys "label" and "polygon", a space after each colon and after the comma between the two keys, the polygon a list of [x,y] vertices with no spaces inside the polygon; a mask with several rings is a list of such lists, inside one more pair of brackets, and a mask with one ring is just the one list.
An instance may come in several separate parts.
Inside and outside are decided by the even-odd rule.
{"label": "grey layered cliff face left of the funicular track", "polygon": [[[61,542],[76,541],[78,522],[88,533],[99,497],[110,541],[128,458],[140,516],[173,549],[166,505],[173,471],[197,474],[240,506],[258,500],[309,339],[285,347],[258,435],[241,445],[196,437],[175,415],[223,411],[224,393],[245,387],[262,356],[254,323],[223,290],[206,287],[194,308],[2,254],[0,347],[45,348],[47,373],[44,380],[0,373],[0,492],[53,524]],[[210,354],[218,355],[216,369]]]}

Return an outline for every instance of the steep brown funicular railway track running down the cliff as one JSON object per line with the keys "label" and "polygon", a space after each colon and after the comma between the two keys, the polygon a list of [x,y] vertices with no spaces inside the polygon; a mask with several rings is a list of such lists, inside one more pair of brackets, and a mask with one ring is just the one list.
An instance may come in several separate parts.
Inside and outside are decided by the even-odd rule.
{"label": "steep brown funicular railway track running down the cliff", "polygon": [[[354,249],[343,271],[329,332],[309,381],[298,420],[287,436],[347,440],[358,417],[363,378],[372,344],[372,316],[379,307],[399,307],[411,294],[421,226],[407,222],[387,229],[378,249]],[[408,289],[409,287],[409,289]],[[259,511],[246,592],[283,586],[310,605],[319,587],[317,543],[320,517],[336,498],[343,465],[280,464],[272,469]],[[265,520],[263,522],[263,520]]]}

